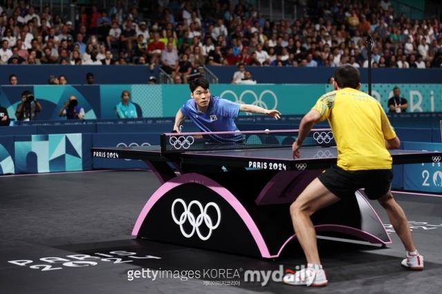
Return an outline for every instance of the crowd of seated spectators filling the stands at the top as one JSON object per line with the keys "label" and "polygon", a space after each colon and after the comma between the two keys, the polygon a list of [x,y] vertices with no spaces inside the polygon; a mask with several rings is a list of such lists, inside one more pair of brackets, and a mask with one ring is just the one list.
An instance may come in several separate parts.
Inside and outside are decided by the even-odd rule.
{"label": "crowd of seated spectators filling the stands at the top", "polygon": [[3,0],[1,63],[160,65],[186,83],[206,65],[367,67],[372,35],[373,67],[442,64],[439,20],[407,19],[385,0],[300,0],[305,16],[296,21],[269,21],[243,0],[147,2],[142,17],[122,0],[107,11],[78,7],[74,29],[48,6],[37,12],[24,0]]}

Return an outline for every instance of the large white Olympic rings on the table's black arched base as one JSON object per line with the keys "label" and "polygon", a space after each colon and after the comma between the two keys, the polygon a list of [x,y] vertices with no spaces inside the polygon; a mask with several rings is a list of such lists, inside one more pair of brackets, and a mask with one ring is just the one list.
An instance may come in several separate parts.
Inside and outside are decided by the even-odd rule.
{"label": "large white Olympic rings on the table's black arched base", "polygon": [[[174,208],[175,208],[175,204],[177,204],[177,203],[182,204],[182,206],[184,208],[184,212],[180,215],[180,219],[177,219],[177,217],[175,216]],[[191,213],[191,207],[194,204],[196,206],[198,206],[198,208],[200,208],[200,215],[198,215],[198,217],[196,217],[196,218],[195,218],[195,215],[193,215],[193,213]],[[218,215],[218,221],[216,222],[215,225],[213,225],[211,217],[207,214],[207,209],[211,206],[213,208],[215,208],[216,213]],[[220,211],[220,208],[218,207],[218,205],[215,204],[214,202],[209,202],[208,204],[206,204],[206,206],[204,206],[204,208],[202,208],[202,204],[196,200],[193,200],[191,203],[189,203],[189,206],[187,206],[186,202],[184,202],[183,199],[175,199],[175,201],[172,204],[171,210],[172,210],[173,222],[175,222],[175,224],[180,226],[181,233],[186,238],[192,237],[196,231],[198,237],[200,237],[200,239],[202,239],[203,241],[206,241],[212,235],[213,230],[215,230],[216,228],[218,228],[218,226],[220,226],[221,211]],[[189,219],[189,223],[192,226],[192,231],[189,234],[186,233],[186,231],[184,231],[184,228],[183,228],[183,224],[188,219]],[[207,226],[207,228],[209,228],[209,233],[206,236],[203,236],[202,233],[200,232],[200,226],[202,225],[202,222],[204,222],[204,224]]]}

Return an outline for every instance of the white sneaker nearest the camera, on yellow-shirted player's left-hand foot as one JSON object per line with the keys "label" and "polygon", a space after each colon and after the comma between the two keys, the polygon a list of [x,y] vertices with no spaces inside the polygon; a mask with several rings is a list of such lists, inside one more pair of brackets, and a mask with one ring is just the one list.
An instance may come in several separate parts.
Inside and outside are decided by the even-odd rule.
{"label": "white sneaker nearest the camera, on yellow-shirted player's left-hand foot", "polygon": [[315,270],[313,268],[302,268],[296,273],[288,273],[282,278],[282,282],[294,286],[327,286],[327,277],[323,269]]}

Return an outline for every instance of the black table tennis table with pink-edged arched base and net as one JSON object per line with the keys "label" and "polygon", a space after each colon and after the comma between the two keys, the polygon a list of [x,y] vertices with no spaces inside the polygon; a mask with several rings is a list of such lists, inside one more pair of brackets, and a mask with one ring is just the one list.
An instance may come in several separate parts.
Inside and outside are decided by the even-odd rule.
{"label": "black table tennis table with pink-edged arched base and net", "polygon": [[[160,135],[160,146],[91,152],[93,157],[142,160],[162,184],[137,218],[132,232],[137,238],[276,258],[296,238],[290,204],[337,159],[329,129],[311,130],[300,158],[294,159],[291,144],[297,135],[298,130],[167,133]],[[442,156],[415,150],[390,154],[393,164],[439,162]],[[359,192],[311,219],[325,237],[383,246],[392,242]]]}

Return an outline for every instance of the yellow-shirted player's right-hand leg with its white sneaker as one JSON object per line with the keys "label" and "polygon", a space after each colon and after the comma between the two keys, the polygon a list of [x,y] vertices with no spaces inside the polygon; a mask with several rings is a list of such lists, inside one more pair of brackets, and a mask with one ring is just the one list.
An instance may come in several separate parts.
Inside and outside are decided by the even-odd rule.
{"label": "yellow-shirted player's right-hand leg with its white sneaker", "polygon": [[412,270],[423,270],[423,256],[419,255],[414,246],[410,226],[403,209],[394,200],[391,190],[378,199],[379,204],[387,211],[388,218],[405,246],[405,259],[402,265]]}

